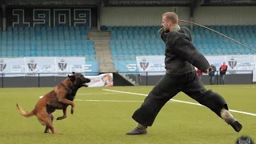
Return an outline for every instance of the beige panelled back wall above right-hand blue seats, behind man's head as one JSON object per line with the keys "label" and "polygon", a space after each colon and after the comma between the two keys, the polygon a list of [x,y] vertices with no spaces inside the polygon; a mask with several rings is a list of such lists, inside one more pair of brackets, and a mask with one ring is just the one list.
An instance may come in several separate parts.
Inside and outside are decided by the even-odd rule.
{"label": "beige panelled back wall above right-hand blue seats, behind man's head", "polygon": [[[105,6],[102,8],[103,26],[160,26],[162,14],[176,11],[179,19],[190,21],[189,6],[132,7]],[[124,17],[123,14],[126,14]],[[255,25],[255,6],[199,6],[193,22],[201,25]],[[245,17],[246,15],[246,17]],[[180,25],[188,25],[181,22]]]}

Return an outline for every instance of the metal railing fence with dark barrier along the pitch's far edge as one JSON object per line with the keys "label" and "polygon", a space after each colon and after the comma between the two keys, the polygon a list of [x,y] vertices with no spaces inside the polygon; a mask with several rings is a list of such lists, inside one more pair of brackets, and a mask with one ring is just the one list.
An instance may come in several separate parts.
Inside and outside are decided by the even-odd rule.
{"label": "metal railing fence with dark barrier along the pitch's far edge", "polygon": [[[119,73],[125,74],[127,78],[131,78],[137,86],[154,86],[165,74],[164,71],[157,72],[145,72],[143,74],[139,72],[114,72],[113,81],[114,86],[123,86],[122,84],[126,81],[122,78]],[[154,73],[154,75],[152,75]],[[58,85],[67,74],[54,74],[54,73],[39,73],[39,74],[0,74],[0,87],[51,87]],[[98,73],[99,74],[99,73]],[[95,73],[85,73],[86,75],[95,75]],[[202,75],[202,82],[205,85],[210,84],[210,76]],[[255,78],[256,79],[256,78]],[[214,85],[220,85],[221,77],[219,71],[214,75]],[[127,82],[126,82],[127,83]],[[235,84],[254,84],[254,73],[253,71],[227,71],[224,78],[225,85],[235,85]],[[128,86],[128,85],[127,85]]]}

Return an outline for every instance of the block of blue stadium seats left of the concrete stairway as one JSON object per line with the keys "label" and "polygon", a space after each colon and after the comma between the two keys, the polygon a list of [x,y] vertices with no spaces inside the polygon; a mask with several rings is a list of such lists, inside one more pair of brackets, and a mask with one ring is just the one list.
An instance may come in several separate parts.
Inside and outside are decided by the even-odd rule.
{"label": "block of blue stadium seats left of the concrete stairway", "polygon": [[76,57],[85,56],[86,64],[96,65],[94,42],[87,39],[84,26],[8,26],[0,31],[0,57]]}

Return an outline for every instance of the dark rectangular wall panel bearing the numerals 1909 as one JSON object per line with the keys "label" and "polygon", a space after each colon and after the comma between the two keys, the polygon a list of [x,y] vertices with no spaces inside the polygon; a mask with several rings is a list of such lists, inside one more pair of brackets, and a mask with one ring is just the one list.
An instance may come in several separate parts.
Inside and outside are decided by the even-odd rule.
{"label": "dark rectangular wall panel bearing the numerals 1909", "polygon": [[97,8],[6,8],[7,26],[97,27]]}

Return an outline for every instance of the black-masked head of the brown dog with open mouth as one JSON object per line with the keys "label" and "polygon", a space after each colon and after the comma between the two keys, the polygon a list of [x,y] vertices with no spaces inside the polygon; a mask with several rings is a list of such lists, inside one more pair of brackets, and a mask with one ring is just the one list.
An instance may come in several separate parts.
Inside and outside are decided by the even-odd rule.
{"label": "black-masked head of the brown dog with open mouth", "polygon": [[72,75],[68,75],[70,80],[74,83],[74,86],[82,87],[85,86],[87,87],[86,83],[90,82],[90,78],[86,78],[83,74],[81,73],[72,73]]}

